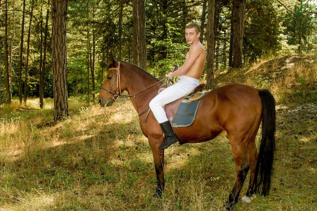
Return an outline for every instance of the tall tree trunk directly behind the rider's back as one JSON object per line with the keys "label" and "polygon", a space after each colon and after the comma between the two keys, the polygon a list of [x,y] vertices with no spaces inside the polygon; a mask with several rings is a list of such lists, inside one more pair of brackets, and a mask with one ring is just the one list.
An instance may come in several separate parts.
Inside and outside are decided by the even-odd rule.
{"label": "tall tree trunk directly behind the rider's back", "polygon": [[214,60],[215,60],[215,0],[208,0],[207,16],[207,83],[206,88],[214,87]]}

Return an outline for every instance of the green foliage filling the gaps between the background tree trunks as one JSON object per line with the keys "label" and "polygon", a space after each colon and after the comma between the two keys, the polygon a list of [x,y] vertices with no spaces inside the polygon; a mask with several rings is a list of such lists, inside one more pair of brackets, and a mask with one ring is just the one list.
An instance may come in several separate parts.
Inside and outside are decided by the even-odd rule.
{"label": "green foliage filling the gaps between the background tree trunks", "polygon": [[[216,1],[217,12],[217,60],[227,68],[230,48],[232,5],[230,1]],[[315,51],[317,44],[314,1],[283,1],[284,6],[273,0],[247,1],[244,31],[244,62],[258,61],[276,56],[281,49],[297,52]],[[26,1],[24,26],[23,77],[26,75],[27,33],[30,26],[30,54],[28,58],[28,97],[39,96],[39,71],[43,64],[43,38],[47,1]],[[203,11],[201,1],[145,1],[147,70],[158,78],[168,73],[173,65],[181,66],[188,50],[184,39],[184,27],[189,22],[200,23]],[[2,7],[0,36],[6,37]],[[286,10],[286,8],[288,10]],[[32,13],[32,22],[30,15]],[[122,34],[119,18],[122,14]],[[207,10],[208,11],[208,10]],[[289,12],[290,11],[290,12]],[[21,40],[22,1],[8,2],[9,66],[12,95],[18,95],[19,46]],[[104,79],[110,55],[132,62],[133,58],[133,13],[131,1],[69,1],[67,10],[67,86],[69,96],[82,95],[87,102],[94,101]],[[29,25],[30,24],[30,25]],[[207,25],[205,20],[204,26]],[[44,97],[53,97],[51,17],[48,23]],[[204,28],[206,31],[210,29]],[[281,33],[283,32],[283,34]],[[203,44],[206,47],[206,37]],[[2,70],[5,64],[5,46],[1,48]],[[18,48],[17,48],[18,47]],[[119,58],[121,57],[121,58]],[[93,63],[94,61],[94,63]],[[92,72],[95,75],[95,90],[92,90]],[[2,100],[6,101],[7,76],[2,71]],[[260,85],[264,86],[264,85]]]}

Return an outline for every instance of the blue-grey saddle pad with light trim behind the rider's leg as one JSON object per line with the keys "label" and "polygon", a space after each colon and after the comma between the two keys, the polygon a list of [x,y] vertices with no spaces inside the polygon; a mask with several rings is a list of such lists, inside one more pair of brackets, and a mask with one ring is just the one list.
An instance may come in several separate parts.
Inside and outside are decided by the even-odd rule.
{"label": "blue-grey saddle pad with light trim behind the rider's leg", "polygon": [[190,126],[195,120],[197,109],[201,100],[202,99],[192,102],[182,101],[172,119],[172,126],[175,128]]}

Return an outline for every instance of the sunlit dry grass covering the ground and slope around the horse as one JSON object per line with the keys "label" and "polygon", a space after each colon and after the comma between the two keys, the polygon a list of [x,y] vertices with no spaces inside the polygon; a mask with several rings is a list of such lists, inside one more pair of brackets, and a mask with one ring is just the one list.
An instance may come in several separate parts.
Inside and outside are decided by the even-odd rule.
{"label": "sunlit dry grass covering the ground and slope around the horse", "polygon": [[[217,86],[244,82],[276,98],[276,156],[270,194],[234,210],[317,207],[316,55],[289,55],[217,72]],[[305,70],[305,71],[303,71]],[[0,210],[223,210],[235,179],[226,138],[166,150],[166,189],[153,198],[152,154],[128,99],[112,107],[69,99],[0,108]],[[248,183],[248,181],[246,181]],[[246,192],[246,185],[242,195]]]}

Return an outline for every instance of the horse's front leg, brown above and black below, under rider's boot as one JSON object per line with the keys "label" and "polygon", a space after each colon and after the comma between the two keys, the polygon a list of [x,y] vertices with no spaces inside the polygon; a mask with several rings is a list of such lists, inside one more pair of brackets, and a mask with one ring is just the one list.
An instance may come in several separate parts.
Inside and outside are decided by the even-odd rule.
{"label": "horse's front leg, brown above and black below, under rider's boot", "polygon": [[162,140],[157,140],[154,138],[148,138],[149,145],[152,150],[154,165],[155,165],[155,173],[157,179],[156,192],[154,196],[156,198],[162,198],[162,193],[164,191],[165,180],[164,180],[164,150],[159,150],[159,146],[163,143]]}

